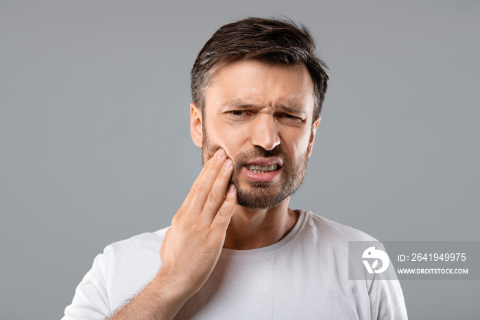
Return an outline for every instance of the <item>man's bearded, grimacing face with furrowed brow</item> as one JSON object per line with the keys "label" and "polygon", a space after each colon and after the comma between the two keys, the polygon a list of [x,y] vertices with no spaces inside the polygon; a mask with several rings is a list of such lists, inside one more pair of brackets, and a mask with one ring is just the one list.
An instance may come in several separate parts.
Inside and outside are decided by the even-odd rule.
{"label": "man's bearded, grimacing face with furrowed brow", "polygon": [[314,102],[304,65],[236,60],[217,70],[205,94],[202,161],[224,148],[239,205],[276,207],[298,189],[320,121],[312,124]]}

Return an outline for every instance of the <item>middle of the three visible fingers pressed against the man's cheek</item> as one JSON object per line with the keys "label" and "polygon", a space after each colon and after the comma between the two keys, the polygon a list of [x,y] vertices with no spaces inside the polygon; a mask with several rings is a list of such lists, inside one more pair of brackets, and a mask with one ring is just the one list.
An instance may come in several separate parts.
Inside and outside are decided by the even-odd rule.
{"label": "middle of the three visible fingers pressed against the man's cheek", "polygon": [[228,183],[230,181],[230,176],[232,176],[233,165],[232,160],[227,159],[224,162],[224,165],[221,166],[220,172],[215,179],[213,186],[208,192],[204,207],[202,209],[202,220],[204,220],[208,225],[212,223],[217,210],[224,203]]}

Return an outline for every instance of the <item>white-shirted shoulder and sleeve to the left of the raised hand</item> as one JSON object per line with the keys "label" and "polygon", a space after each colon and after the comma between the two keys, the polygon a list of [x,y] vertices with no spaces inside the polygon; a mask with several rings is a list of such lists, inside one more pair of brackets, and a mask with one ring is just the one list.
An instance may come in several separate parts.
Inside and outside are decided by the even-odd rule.
{"label": "white-shirted shoulder and sleeve to the left of the raised hand", "polygon": [[160,268],[158,251],[167,229],[142,233],[105,247],[77,286],[71,306],[65,309],[65,315],[71,317],[68,319],[87,314],[92,315],[91,319],[104,319],[149,283]]}

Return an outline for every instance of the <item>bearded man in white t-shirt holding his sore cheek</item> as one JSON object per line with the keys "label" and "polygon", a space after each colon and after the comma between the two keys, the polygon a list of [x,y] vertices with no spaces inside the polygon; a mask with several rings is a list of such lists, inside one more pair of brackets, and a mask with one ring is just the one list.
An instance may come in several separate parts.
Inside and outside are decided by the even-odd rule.
{"label": "bearded man in white t-shirt holding his sore cheek", "polygon": [[202,172],[171,227],[95,258],[64,319],[406,319],[397,281],[348,279],[348,241],[372,237],[288,207],[327,80],[304,28],[221,27],[192,69]]}

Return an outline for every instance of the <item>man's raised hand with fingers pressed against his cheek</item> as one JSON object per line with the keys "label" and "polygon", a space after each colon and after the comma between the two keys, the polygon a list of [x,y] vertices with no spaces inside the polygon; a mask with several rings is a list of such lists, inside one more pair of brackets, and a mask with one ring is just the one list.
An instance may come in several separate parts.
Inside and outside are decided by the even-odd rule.
{"label": "man's raised hand with fingers pressed against his cheek", "polygon": [[229,185],[232,170],[221,148],[208,159],[160,248],[159,273],[168,274],[189,295],[202,288],[221,253],[237,203],[235,186]]}

